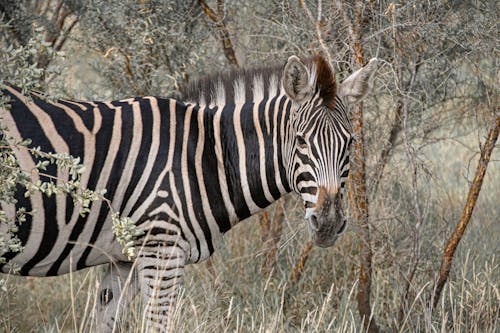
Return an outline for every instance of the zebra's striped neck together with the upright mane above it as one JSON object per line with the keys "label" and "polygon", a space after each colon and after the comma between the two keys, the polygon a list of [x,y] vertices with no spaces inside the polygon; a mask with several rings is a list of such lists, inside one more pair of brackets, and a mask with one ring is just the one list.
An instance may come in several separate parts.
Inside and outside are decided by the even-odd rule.
{"label": "zebra's striped neck together with the upright mane above it", "polygon": [[291,191],[287,179],[291,100],[282,66],[234,70],[192,82],[187,103],[213,115],[217,176],[231,224]]}

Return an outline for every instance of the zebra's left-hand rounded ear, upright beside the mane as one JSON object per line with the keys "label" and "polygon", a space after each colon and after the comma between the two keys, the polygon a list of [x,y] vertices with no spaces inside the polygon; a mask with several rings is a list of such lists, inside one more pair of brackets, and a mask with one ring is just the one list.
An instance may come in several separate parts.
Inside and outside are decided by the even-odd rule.
{"label": "zebra's left-hand rounded ear, upright beside the mane", "polygon": [[302,102],[311,92],[309,70],[296,56],[291,56],[283,70],[283,88],[295,102]]}

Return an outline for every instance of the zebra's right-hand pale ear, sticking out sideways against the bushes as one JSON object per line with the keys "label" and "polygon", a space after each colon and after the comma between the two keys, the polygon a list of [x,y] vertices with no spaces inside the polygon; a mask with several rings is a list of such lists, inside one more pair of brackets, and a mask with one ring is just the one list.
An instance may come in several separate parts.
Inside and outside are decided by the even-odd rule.
{"label": "zebra's right-hand pale ear, sticking out sideways against the bushes", "polygon": [[363,68],[358,69],[340,84],[339,95],[346,96],[350,103],[363,99],[371,91],[371,78],[377,71],[377,58],[372,58]]}

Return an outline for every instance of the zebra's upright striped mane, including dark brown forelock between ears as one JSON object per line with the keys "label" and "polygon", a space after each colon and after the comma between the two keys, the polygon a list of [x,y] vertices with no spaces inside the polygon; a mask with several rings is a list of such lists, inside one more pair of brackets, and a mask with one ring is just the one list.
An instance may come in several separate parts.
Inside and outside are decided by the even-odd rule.
{"label": "zebra's upright striped mane, including dark brown forelock between ears", "polygon": [[[336,88],[331,66],[322,56],[303,59],[303,62],[309,67],[311,86],[317,85],[324,101],[334,104]],[[225,105],[278,95],[282,93],[283,67],[233,69],[208,75],[191,82],[181,91],[181,98],[200,105]]]}

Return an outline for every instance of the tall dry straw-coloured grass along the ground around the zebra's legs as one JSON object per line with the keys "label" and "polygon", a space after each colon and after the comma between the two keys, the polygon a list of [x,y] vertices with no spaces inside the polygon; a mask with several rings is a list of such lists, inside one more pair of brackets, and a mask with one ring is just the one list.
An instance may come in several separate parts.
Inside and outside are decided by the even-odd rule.
{"label": "tall dry straw-coloured grass along the ground around the zebra's legs", "polygon": [[[255,218],[228,234],[225,244],[213,257],[214,273],[206,264],[187,267],[179,306],[173,315],[175,332],[364,331],[356,309],[355,228],[333,248],[314,248],[302,279],[297,285],[289,285],[290,269],[308,237],[301,211],[294,209],[294,204],[291,200],[288,205],[287,211],[291,213],[287,215],[278,260],[269,275],[261,273],[264,258]],[[400,263],[385,252],[391,249],[391,244],[376,251],[373,309],[382,329],[498,331],[500,269],[497,255],[488,251],[495,248],[496,237],[484,237],[495,234],[498,234],[496,223],[477,224],[470,230],[444,297],[432,313],[428,310],[428,296],[436,260],[424,260],[412,284],[414,300],[401,325],[396,323],[403,285],[397,272]],[[384,235],[396,243],[392,236],[398,237],[394,233]],[[0,331],[94,331],[92,309],[100,275],[100,269],[94,268],[56,278],[5,276],[8,291],[0,294]],[[142,331],[140,302],[138,297],[128,306],[129,314],[120,324],[124,331]]]}

